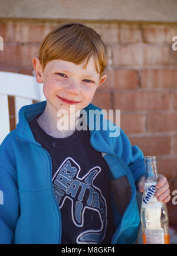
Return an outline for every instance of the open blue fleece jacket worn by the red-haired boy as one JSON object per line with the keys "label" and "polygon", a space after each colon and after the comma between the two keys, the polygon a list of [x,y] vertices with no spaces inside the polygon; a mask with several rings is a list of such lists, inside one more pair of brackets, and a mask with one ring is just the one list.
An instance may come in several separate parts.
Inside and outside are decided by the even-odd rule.
{"label": "open blue fleece jacket worn by the red-haired boy", "polygon": [[[62,223],[53,193],[51,156],[35,141],[28,124],[44,111],[45,105],[46,101],[42,101],[22,107],[17,129],[12,130],[0,146],[3,196],[0,244],[60,244],[61,241]],[[100,108],[89,104],[84,110],[87,125],[93,126],[89,110]],[[107,120],[101,119],[102,122]],[[109,121],[107,127],[112,132],[114,125]],[[113,181],[112,209],[117,229],[112,244],[133,244],[139,229],[135,181],[145,174],[144,157],[137,146],[130,145],[122,129],[116,137],[110,136],[110,131],[90,130],[90,143],[103,153]]]}

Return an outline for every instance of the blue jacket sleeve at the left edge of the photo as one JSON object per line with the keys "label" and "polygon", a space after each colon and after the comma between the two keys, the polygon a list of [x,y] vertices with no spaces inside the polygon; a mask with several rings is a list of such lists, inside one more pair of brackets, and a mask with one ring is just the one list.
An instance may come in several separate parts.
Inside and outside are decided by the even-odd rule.
{"label": "blue jacket sleeve at the left edge of the photo", "polygon": [[17,177],[9,157],[9,148],[0,146],[0,244],[13,244],[15,226],[19,217]]}

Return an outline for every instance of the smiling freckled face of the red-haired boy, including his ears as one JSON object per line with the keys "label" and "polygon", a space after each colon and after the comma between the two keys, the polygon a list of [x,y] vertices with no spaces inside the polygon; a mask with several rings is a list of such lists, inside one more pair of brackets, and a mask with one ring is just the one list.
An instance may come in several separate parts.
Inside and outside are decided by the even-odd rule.
{"label": "smiling freckled face of the red-haired boy, including his ears", "polygon": [[90,104],[94,93],[105,80],[96,72],[94,57],[92,56],[86,68],[86,62],[76,65],[65,60],[52,60],[45,66],[44,72],[37,57],[33,59],[37,81],[43,82],[44,95],[47,104],[55,110],[67,110],[75,105],[75,111],[81,110]]}

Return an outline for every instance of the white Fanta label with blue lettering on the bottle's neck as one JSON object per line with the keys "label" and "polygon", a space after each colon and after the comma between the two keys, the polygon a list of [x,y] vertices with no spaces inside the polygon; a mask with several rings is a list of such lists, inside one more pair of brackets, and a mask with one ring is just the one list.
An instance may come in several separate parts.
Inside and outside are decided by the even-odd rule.
{"label": "white Fanta label with blue lettering on the bottle's neck", "polygon": [[156,199],[156,182],[145,183],[145,191],[143,193],[143,208],[158,208],[161,206],[160,201]]}

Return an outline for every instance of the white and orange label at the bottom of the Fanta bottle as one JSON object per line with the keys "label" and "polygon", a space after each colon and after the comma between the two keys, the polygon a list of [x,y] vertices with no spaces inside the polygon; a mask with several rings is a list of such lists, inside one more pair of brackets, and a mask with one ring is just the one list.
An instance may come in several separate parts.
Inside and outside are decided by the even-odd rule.
{"label": "white and orange label at the bottom of the Fanta bottle", "polygon": [[143,244],[165,244],[165,234],[162,228],[160,229],[145,229],[143,235]]}

